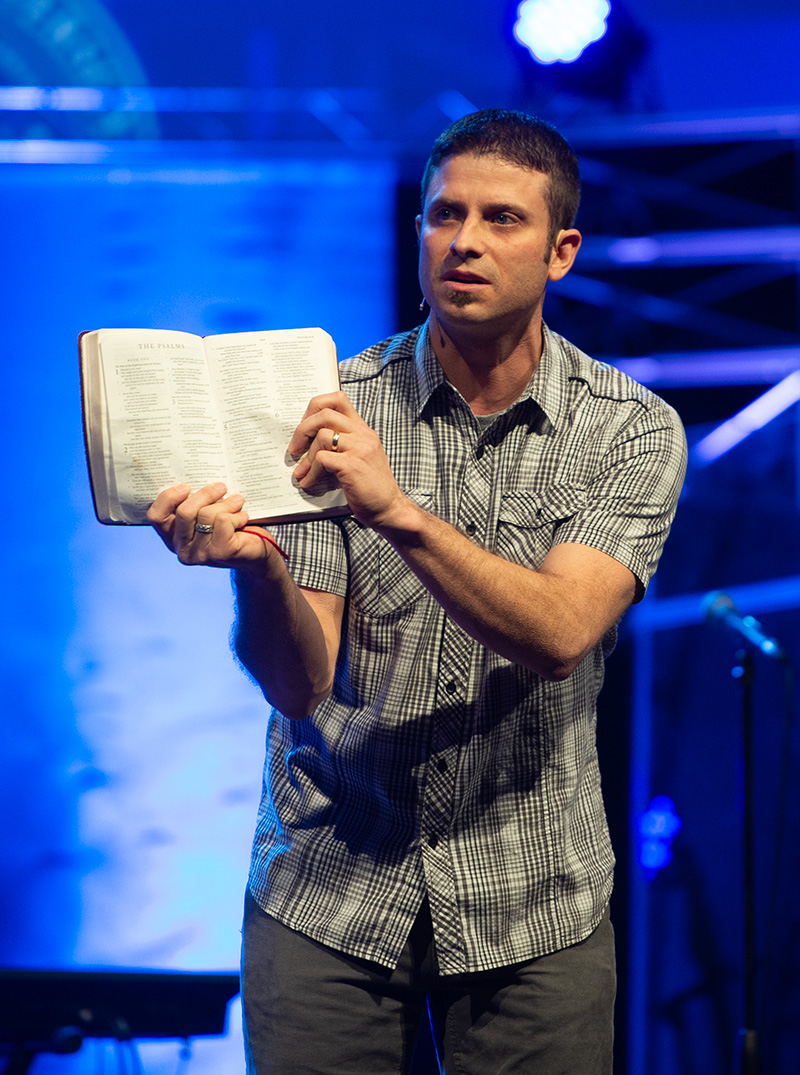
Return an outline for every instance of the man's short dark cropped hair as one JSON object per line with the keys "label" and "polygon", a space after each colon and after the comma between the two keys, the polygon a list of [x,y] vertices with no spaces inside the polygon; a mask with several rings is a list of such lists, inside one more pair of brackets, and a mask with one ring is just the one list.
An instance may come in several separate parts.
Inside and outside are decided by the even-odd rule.
{"label": "man's short dark cropped hair", "polygon": [[423,173],[423,205],[433,173],[442,162],[470,153],[494,154],[548,176],[544,200],[549,214],[551,242],[555,242],[561,228],[574,225],[581,202],[581,174],[572,146],[551,124],[510,109],[473,112],[439,135]]}

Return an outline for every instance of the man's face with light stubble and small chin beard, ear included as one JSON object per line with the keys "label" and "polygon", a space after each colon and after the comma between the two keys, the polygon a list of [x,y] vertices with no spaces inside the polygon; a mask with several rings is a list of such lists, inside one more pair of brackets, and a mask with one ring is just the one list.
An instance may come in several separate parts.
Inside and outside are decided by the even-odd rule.
{"label": "man's face with light stubble and small chin beard, ear included", "polygon": [[502,332],[540,314],[547,281],[574,258],[562,268],[559,240],[548,243],[547,183],[492,155],[448,157],[434,172],[416,221],[419,283],[445,328]]}

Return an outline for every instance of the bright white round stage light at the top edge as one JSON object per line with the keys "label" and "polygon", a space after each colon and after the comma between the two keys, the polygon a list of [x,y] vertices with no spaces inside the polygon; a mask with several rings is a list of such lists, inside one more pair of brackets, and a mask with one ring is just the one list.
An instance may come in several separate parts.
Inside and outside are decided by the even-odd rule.
{"label": "bright white round stage light at the top edge", "polygon": [[605,33],[606,0],[524,0],[514,37],[539,63],[572,63]]}

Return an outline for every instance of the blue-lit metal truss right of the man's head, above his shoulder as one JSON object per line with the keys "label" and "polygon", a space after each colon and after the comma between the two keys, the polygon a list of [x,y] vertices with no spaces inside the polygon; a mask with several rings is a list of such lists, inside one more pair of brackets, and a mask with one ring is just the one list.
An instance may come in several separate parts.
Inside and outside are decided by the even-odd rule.
{"label": "blue-lit metal truss right of the man's head, above his shoulder", "polygon": [[762,379],[763,349],[800,342],[800,113],[633,118],[567,134],[581,156],[583,228],[597,238],[562,299],[594,307],[595,335],[616,340],[618,356],[678,353],[687,385],[706,352],[734,347],[739,383]]}

